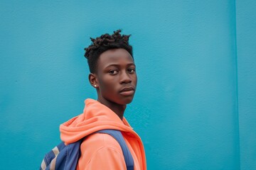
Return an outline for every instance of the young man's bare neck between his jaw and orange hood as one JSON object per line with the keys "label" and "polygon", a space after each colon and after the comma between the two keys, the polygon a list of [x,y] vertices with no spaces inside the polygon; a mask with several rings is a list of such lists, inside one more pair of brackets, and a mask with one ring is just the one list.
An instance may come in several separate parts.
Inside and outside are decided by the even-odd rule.
{"label": "young man's bare neck between his jaw and orange hood", "polygon": [[107,101],[106,99],[102,99],[102,98],[98,98],[97,101],[99,101],[100,103],[110,108],[114,113],[118,115],[118,117],[121,120],[123,119],[126,105],[119,105],[117,103],[113,103],[111,101]]}

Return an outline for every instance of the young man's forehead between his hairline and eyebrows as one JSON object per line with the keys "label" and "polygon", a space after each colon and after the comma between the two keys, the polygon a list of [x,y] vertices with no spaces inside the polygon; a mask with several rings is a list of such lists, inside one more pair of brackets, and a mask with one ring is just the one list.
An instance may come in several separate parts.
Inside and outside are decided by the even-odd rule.
{"label": "young man's forehead between his hairline and eyebrows", "polygon": [[107,67],[110,64],[122,65],[130,63],[134,63],[132,56],[129,54],[129,52],[127,52],[127,50],[124,50],[122,48],[111,49],[102,52],[99,60],[97,61],[99,69],[102,67]]}

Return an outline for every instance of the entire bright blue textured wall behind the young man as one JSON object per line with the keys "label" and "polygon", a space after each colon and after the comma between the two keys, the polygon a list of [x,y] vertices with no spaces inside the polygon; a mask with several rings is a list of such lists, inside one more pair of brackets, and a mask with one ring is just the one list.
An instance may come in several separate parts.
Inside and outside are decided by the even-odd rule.
{"label": "entire bright blue textured wall behind the young man", "polygon": [[253,169],[255,15],[242,0],[0,1],[1,167],[38,169],[96,98],[83,48],[122,28],[139,77],[125,116],[148,169]]}

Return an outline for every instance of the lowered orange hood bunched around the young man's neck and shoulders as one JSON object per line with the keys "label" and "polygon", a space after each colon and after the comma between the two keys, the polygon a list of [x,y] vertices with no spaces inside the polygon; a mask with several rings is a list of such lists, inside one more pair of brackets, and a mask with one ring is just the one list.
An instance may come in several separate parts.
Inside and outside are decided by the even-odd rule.
{"label": "lowered orange hood bunched around the young man's neck and shoulders", "polygon": [[65,144],[70,144],[93,132],[105,129],[132,132],[139,137],[125,118],[121,120],[110,108],[88,98],[85,100],[82,114],[60,125],[60,138]]}

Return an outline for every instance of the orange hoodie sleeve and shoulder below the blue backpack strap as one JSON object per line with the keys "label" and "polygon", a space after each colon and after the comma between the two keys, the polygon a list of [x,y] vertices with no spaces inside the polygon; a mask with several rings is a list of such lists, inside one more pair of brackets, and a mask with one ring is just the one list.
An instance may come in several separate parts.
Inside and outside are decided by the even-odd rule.
{"label": "orange hoodie sleeve and shoulder below the blue backpack strap", "polygon": [[90,135],[82,142],[80,150],[81,157],[77,170],[126,169],[122,149],[117,140],[110,135]]}

